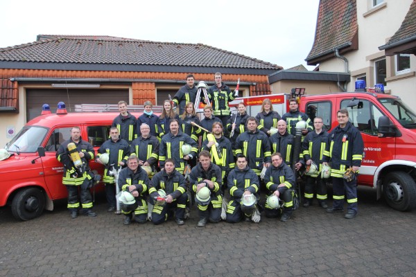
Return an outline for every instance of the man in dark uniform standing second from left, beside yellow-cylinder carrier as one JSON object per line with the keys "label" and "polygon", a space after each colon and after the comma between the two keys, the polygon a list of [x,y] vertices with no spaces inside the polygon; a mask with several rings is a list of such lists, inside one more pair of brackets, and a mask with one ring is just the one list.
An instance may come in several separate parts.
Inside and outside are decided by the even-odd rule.
{"label": "man in dark uniform standing second from left, beside yellow-cylinder carrier", "polygon": [[[116,210],[116,188],[114,186],[114,176],[110,175],[110,171],[119,170],[125,166],[125,162],[130,155],[130,146],[124,139],[119,138],[119,129],[116,127],[110,128],[110,139],[105,141],[98,149],[96,163],[101,163],[101,154],[107,153],[109,160],[105,165],[103,182],[105,184],[105,197],[107,198],[109,212]],[[103,163],[101,163],[103,164]]]}

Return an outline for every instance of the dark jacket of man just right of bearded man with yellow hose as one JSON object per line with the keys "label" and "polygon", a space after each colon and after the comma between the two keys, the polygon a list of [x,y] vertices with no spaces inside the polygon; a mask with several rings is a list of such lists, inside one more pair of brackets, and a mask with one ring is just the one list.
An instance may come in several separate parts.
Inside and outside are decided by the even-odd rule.
{"label": "dark jacket of man just right of bearded man with yellow hose", "polygon": [[263,163],[270,163],[272,152],[268,136],[256,129],[243,132],[236,140],[236,155],[243,154],[248,159],[248,166],[260,175]]}

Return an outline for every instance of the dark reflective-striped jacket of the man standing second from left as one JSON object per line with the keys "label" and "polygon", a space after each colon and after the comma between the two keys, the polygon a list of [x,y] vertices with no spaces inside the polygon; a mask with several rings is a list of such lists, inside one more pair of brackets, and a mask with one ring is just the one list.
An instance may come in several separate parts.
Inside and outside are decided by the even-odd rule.
{"label": "dark reflective-striped jacket of the man standing second from left", "polygon": [[130,155],[130,145],[124,139],[118,139],[117,141],[109,139],[98,149],[97,158],[104,153],[107,153],[110,159],[104,169],[103,182],[114,184],[114,176],[110,176],[110,170],[113,167],[115,170],[118,170],[120,168],[119,162],[121,161],[123,163],[127,162],[128,156]]}

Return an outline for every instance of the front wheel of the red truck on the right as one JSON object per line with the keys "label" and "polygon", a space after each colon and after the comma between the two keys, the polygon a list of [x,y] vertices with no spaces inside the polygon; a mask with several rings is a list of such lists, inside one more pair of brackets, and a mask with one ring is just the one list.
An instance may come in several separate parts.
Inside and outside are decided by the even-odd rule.
{"label": "front wheel of the red truck on the right", "polygon": [[383,181],[383,195],[397,211],[410,211],[416,206],[416,184],[405,172],[390,172]]}

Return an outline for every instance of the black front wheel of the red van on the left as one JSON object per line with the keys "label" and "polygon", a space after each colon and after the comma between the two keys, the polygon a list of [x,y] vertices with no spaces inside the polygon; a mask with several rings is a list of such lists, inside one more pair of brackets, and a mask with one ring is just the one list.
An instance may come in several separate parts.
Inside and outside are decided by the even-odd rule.
{"label": "black front wheel of the red van on the left", "polygon": [[32,220],[42,214],[44,207],[44,193],[38,188],[25,188],[13,198],[12,214],[17,220]]}

